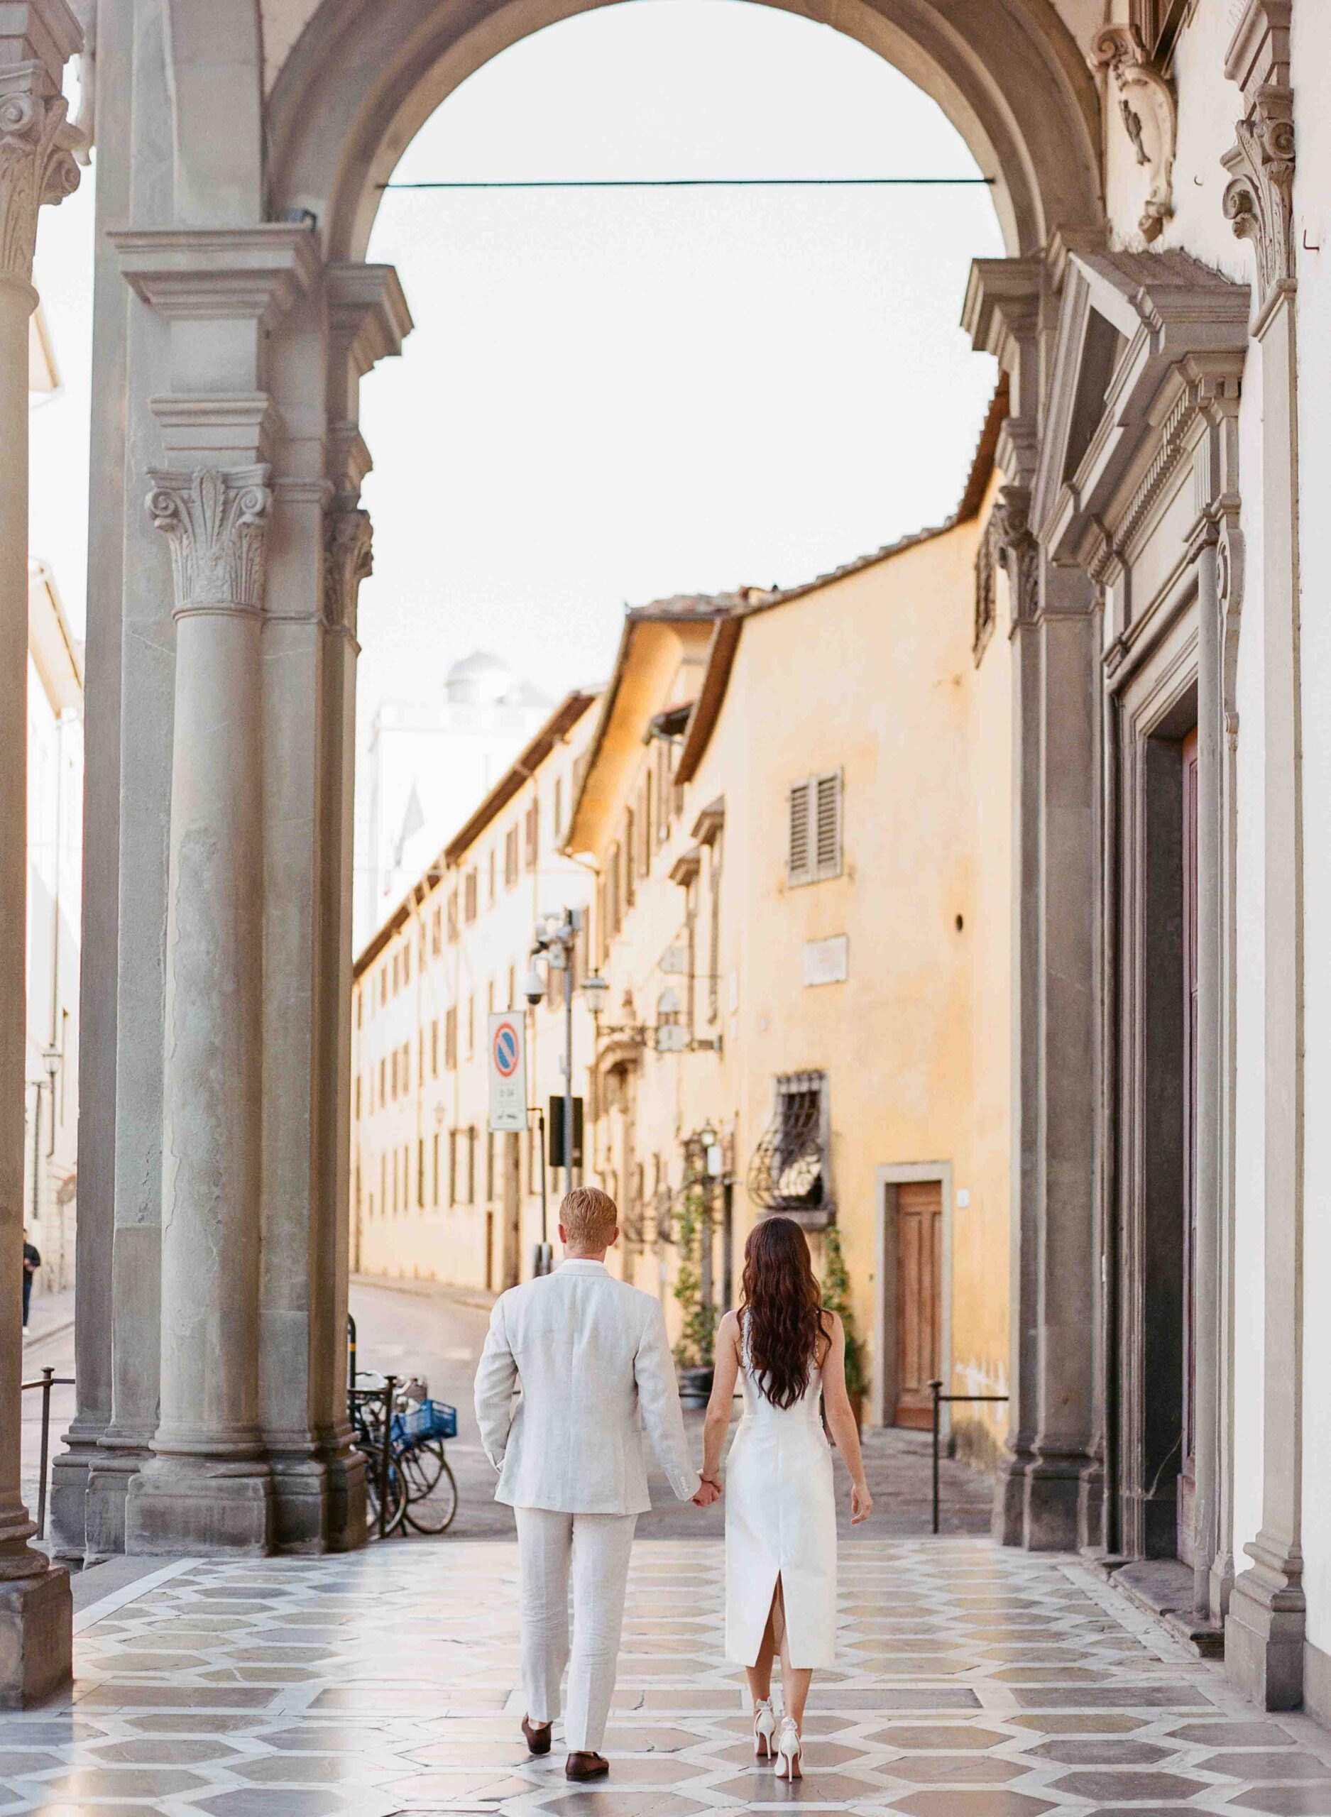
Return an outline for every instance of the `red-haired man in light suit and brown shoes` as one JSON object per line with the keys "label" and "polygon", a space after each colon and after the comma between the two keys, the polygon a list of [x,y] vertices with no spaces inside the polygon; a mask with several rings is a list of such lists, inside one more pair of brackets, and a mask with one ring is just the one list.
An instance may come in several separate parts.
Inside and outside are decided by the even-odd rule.
{"label": "red-haired man in light suit and brown shoes", "polygon": [[549,1753],[567,1663],[564,1772],[576,1781],[609,1773],[598,1750],[629,1550],[638,1515],[651,1508],[644,1426],[680,1501],[707,1506],[716,1495],[689,1457],[660,1303],[605,1268],[616,1237],[609,1194],[565,1194],[564,1265],[500,1294],[476,1368],[480,1441],[500,1472],[495,1501],[509,1503],[518,1524],[522,1733],[533,1753]]}

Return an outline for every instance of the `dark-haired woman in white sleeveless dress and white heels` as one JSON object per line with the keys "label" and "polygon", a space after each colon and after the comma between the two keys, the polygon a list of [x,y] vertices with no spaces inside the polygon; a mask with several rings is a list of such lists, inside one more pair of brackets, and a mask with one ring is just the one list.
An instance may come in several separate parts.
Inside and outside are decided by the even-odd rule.
{"label": "dark-haired woman in white sleeveless dress and white heels", "polygon": [[[738,1312],[716,1334],[702,1479],[720,1492],[720,1454],[736,1377],[744,1419],[727,1459],[726,1657],[749,1673],[753,1752],[802,1779],[809,1681],[836,1646],[836,1495],[818,1401],[851,1472],[851,1523],[873,1510],[846,1394],[846,1332],[824,1312],[809,1245],[789,1217],[764,1217],[744,1245]],[[706,1490],[704,1490],[706,1494]],[[780,1732],[771,1668],[782,1659]]]}

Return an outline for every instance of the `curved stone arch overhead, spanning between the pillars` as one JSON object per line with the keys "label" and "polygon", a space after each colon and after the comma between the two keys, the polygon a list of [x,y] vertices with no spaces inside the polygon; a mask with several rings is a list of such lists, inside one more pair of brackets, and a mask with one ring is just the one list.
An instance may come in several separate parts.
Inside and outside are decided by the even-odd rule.
{"label": "curved stone arch overhead, spanning between the pillars", "polygon": [[[267,104],[267,209],[309,209],[331,260],[360,260],[384,184],[473,71],[605,0],[322,0]],[[1095,227],[1100,105],[1049,0],[762,0],[856,38],[922,87],[995,180],[1007,253]]]}

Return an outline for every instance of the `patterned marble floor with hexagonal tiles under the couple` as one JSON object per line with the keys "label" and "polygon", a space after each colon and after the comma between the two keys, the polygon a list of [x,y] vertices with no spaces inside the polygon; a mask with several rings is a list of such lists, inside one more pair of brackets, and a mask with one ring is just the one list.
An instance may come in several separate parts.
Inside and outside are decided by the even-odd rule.
{"label": "patterned marble floor with hexagonal tiles under the couple", "polygon": [[[0,1717],[0,1813],[44,1817],[1331,1817],[1331,1735],[1067,1559],[975,1539],[842,1548],[840,1659],[807,1777],[755,1768],[720,1659],[715,1541],[635,1555],[604,1790],[516,1739],[511,1543],[176,1563],[85,1608],[75,1697]],[[127,1597],[120,1601],[120,1597]]]}

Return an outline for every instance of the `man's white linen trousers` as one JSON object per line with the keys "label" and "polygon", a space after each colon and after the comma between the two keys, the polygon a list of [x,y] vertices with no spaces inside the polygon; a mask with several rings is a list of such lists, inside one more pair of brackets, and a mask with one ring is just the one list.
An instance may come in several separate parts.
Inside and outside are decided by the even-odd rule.
{"label": "man's white linen trousers", "polygon": [[[615,1693],[624,1590],[636,1514],[562,1514],[515,1508],[522,1586],[522,1688],[527,1719],[553,1723],[569,1668],[564,1741],[569,1753],[600,1753]],[[569,1657],[569,1568],[573,1657]]]}

